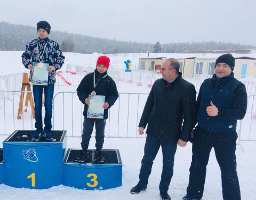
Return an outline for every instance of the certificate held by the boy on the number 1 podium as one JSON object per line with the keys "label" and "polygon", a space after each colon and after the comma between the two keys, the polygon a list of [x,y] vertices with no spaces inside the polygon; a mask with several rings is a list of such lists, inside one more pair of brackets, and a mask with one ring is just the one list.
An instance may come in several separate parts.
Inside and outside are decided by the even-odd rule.
{"label": "certificate held by the boy on the number 1 podium", "polygon": [[31,76],[31,83],[33,85],[47,85],[48,84],[48,63],[33,62],[33,70]]}

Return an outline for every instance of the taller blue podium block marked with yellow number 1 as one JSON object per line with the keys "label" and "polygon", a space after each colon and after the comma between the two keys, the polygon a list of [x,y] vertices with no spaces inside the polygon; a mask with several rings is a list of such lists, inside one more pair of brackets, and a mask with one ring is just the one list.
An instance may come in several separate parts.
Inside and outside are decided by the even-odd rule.
{"label": "taller blue podium block marked with yellow number 1", "polygon": [[31,141],[34,131],[14,131],[3,142],[4,184],[45,189],[62,184],[66,131],[52,131],[53,141]]}

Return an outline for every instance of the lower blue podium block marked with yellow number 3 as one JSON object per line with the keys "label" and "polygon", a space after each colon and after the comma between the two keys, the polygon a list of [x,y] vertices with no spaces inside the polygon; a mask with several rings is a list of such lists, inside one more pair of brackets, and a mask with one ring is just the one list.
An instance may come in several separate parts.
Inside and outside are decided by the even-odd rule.
{"label": "lower blue podium block marked with yellow number 3", "polygon": [[94,163],[94,150],[89,149],[91,163],[78,163],[82,149],[68,149],[63,161],[63,185],[78,189],[110,189],[122,186],[122,161],[119,150],[102,150],[105,162]]}

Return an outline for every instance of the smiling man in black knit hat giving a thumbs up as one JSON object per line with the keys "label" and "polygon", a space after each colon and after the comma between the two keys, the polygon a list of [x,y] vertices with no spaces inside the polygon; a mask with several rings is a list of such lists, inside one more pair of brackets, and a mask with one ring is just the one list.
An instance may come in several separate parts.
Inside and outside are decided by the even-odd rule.
{"label": "smiling man in black knit hat giving a thumbs up", "polygon": [[221,55],[215,74],[205,79],[197,97],[197,122],[193,134],[193,156],[187,195],[184,200],[201,199],[206,166],[212,147],[220,165],[224,200],[241,200],[236,172],[236,122],[243,119],[247,94],[243,83],[234,78],[235,58]]}

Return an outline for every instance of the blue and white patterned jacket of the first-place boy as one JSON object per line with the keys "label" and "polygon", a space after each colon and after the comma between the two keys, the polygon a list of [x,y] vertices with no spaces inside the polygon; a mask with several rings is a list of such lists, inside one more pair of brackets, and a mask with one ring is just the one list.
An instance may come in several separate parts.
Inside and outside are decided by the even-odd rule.
{"label": "blue and white patterned jacket of the first-place boy", "polygon": [[[37,50],[37,44],[39,53]],[[43,57],[41,59],[40,55],[42,56],[42,54]],[[49,66],[55,67],[56,70],[62,67],[65,59],[65,57],[62,55],[59,44],[48,37],[44,39],[40,39],[39,37],[37,39],[33,39],[33,41],[26,45],[26,51],[21,55],[21,57],[22,63],[26,68],[28,68],[30,64],[32,65],[33,62],[44,62],[49,63]],[[56,70],[49,72],[48,84],[55,83]],[[29,81],[31,81],[31,71]]]}

